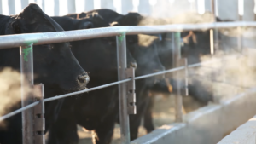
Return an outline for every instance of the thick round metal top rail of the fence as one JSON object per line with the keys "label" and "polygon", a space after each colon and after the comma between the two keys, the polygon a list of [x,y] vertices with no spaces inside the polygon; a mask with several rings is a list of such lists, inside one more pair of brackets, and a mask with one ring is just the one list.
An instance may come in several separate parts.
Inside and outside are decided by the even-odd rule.
{"label": "thick round metal top rail of the fence", "polygon": [[232,28],[243,26],[256,26],[256,22],[240,21],[240,22],[217,22],[202,24],[173,24],[163,26],[113,26],[104,28],[94,28],[86,30],[66,31],[66,32],[44,32],[44,33],[28,33],[16,34],[9,36],[0,36],[0,49],[14,48],[26,46],[28,43],[33,45],[62,43],[79,41],[83,39],[97,37],[112,37],[121,33],[126,35],[134,34],[153,34],[163,32],[183,32],[195,30],[207,30],[212,28]]}

